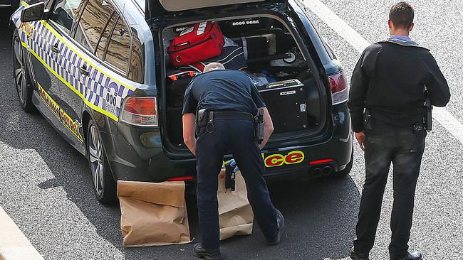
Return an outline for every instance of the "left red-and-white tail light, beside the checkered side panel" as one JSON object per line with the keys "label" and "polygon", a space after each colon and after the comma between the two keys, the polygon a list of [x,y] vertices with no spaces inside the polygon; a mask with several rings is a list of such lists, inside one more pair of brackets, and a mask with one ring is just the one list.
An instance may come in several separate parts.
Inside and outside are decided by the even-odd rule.
{"label": "left red-and-white tail light, beside the checkered side panel", "polygon": [[135,126],[158,126],[155,97],[128,97],[123,104],[121,121]]}

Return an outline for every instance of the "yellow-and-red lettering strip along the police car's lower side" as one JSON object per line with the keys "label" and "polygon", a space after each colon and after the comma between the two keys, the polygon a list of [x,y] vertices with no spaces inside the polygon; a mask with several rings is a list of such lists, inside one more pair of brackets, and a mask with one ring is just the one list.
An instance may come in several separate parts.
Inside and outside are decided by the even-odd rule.
{"label": "yellow-and-red lettering strip along the police car's lower side", "polygon": [[43,102],[46,104],[48,109],[61,121],[61,124],[63,126],[66,126],[66,129],[68,129],[76,138],[83,143],[83,137],[82,134],[80,134],[80,127],[76,122],[71,119],[71,117],[64,112],[61,107],[56,104],[56,102],[50,97],[50,95],[43,90],[43,87],[40,84],[38,85],[38,96],[41,97]]}

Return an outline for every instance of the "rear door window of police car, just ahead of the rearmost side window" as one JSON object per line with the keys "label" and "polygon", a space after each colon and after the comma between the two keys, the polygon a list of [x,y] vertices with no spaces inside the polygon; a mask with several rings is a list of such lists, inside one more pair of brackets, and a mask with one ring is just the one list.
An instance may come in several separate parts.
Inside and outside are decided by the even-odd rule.
{"label": "rear door window of police car, just ahead of the rearmost side window", "polygon": [[113,11],[113,4],[107,0],[88,1],[80,16],[74,39],[94,53]]}

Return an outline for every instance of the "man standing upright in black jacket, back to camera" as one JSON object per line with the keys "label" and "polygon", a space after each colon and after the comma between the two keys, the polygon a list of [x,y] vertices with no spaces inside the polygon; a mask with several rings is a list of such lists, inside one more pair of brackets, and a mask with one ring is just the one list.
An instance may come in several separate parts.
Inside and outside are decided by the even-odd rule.
{"label": "man standing upright in black jacket, back to camera", "polygon": [[444,107],[449,87],[430,50],[410,39],[414,11],[400,2],[390,9],[390,37],[366,48],[352,76],[350,101],[353,131],[365,151],[365,184],[352,259],[368,259],[375,242],[381,203],[393,164],[394,203],[389,245],[391,260],[419,260],[410,254],[415,188],[425,150],[425,89],[432,105]]}

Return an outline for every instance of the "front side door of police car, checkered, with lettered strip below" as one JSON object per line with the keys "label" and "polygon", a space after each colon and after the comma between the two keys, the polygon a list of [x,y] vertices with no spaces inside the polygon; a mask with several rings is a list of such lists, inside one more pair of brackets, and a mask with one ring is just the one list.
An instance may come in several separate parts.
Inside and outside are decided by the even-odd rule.
{"label": "front side door of police car, checkered, with lettered strip below", "polygon": [[70,117],[62,109],[61,85],[66,82],[64,53],[68,49],[68,37],[80,4],[81,0],[57,0],[51,6],[47,20],[33,23],[29,41],[38,97],[56,117],[50,121],[76,148],[82,147],[83,138],[76,118]]}

